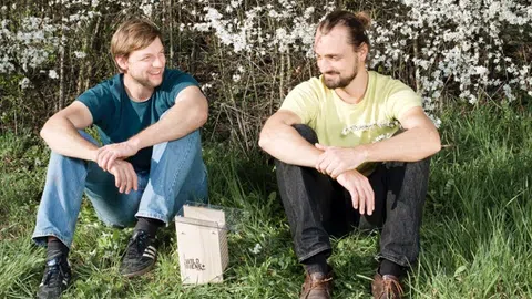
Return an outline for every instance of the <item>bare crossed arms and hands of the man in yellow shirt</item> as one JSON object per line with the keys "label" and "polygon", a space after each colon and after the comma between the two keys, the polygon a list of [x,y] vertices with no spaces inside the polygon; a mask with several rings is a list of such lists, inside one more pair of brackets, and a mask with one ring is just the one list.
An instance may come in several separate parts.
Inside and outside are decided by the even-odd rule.
{"label": "bare crossed arms and hands of the man in yellow shirt", "polygon": [[311,145],[291,127],[300,122],[299,116],[290,111],[277,111],[266,121],[260,132],[259,146],[279,161],[315,167],[336,178],[350,193],[352,206],[360,214],[366,212],[371,215],[375,207],[375,195],[369,181],[356,169],[360,164],[420,161],[441,147],[438,131],[421,107],[412,107],[399,117],[406,132],[382,142],[354,147]]}

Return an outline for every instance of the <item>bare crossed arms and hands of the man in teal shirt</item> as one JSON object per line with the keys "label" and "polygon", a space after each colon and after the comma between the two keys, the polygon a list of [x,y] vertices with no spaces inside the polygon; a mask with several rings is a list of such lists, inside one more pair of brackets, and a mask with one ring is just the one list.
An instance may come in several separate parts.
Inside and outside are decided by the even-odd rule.
{"label": "bare crossed arms and hands of the man in teal shirt", "polygon": [[41,137],[61,155],[96,162],[114,175],[121,193],[129,193],[136,190],[137,182],[133,166],[124,161],[126,157],[144,147],[187,135],[201,127],[207,116],[207,100],[198,87],[188,86],[178,93],[164,117],[125,142],[98,147],[84,140],[78,130],[90,126],[93,120],[89,109],[79,101],[50,117],[41,130]]}

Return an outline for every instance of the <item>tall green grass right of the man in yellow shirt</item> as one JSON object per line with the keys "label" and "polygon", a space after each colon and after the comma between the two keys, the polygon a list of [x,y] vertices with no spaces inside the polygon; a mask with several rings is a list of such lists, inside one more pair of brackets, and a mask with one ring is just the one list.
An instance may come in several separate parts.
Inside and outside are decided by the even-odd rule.
{"label": "tall green grass right of the man in yellow shirt", "polygon": [[532,298],[530,109],[451,111],[412,281],[419,298]]}

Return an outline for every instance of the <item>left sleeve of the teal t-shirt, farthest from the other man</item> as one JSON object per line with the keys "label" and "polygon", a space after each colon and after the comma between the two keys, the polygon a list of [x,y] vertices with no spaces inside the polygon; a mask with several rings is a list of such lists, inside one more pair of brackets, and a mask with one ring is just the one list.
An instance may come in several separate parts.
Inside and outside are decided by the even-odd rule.
{"label": "left sleeve of the teal t-shirt, farthest from the other man", "polygon": [[113,94],[108,87],[109,82],[103,82],[85,91],[78,101],[82,102],[92,114],[92,123],[102,126],[115,111]]}

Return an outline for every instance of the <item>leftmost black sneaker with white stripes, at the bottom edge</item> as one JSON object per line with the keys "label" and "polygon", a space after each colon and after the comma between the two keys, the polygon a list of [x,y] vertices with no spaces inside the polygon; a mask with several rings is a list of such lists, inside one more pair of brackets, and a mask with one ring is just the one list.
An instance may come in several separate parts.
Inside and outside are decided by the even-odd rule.
{"label": "leftmost black sneaker with white stripes, at the bottom edge", "polygon": [[72,271],[65,256],[61,255],[47,261],[47,268],[44,269],[41,285],[39,285],[37,298],[60,298],[61,292],[69,287],[71,278]]}

